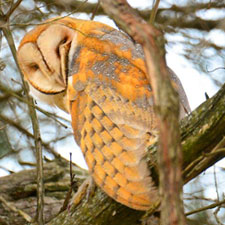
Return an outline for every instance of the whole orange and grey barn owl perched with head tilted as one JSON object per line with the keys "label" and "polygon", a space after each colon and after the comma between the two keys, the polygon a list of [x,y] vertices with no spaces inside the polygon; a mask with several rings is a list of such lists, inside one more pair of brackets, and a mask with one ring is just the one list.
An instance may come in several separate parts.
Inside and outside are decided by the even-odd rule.
{"label": "whole orange and grey barn owl perched with head tilted", "polygon": [[[31,92],[71,114],[95,183],[117,202],[149,209],[158,193],[145,153],[157,124],[141,45],[99,22],[54,18],[25,35],[17,56]],[[189,104],[172,71],[171,79],[183,117]]]}

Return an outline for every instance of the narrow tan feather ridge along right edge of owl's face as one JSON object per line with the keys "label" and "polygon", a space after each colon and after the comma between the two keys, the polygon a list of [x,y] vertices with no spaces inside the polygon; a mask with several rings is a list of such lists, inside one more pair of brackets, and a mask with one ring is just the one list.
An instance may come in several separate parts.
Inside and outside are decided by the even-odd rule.
{"label": "narrow tan feather ridge along right edge of owl's face", "polygon": [[61,80],[64,83],[64,86],[67,86],[68,80],[68,53],[70,49],[71,41],[67,41],[59,47],[60,52],[60,64],[61,64]]}

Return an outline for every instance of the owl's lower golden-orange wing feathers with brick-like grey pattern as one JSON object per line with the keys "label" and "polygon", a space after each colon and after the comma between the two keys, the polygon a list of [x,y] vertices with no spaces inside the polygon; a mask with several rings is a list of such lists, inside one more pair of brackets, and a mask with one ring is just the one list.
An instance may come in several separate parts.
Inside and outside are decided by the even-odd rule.
{"label": "owl's lower golden-orange wing feathers with brick-like grey pattern", "polygon": [[77,143],[97,185],[131,208],[146,210],[155,201],[145,150],[152,108],[143,110],[109,86],[89,82],[71,104]]}

